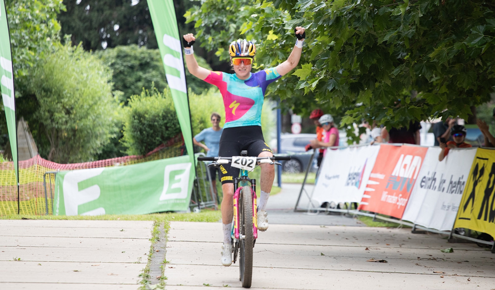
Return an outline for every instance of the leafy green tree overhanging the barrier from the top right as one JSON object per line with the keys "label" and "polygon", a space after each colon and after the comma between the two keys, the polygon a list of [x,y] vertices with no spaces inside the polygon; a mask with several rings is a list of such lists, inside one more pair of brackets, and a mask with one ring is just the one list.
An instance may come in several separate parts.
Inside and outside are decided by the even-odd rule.
{"label": "leafy green tree overhanging the barrier from the top right", "polygon": [[205,0],[187,18],[196,21],[200,44],[216,47],[223,58],[226,39],[259,39],[259,68],[285,60],[293,28],[306,27],[300,67],[269,87],[295,112],[308,112],[316,100],[343,116],[344,125],[375,118],[401,126],[450,114],[467,119],[471,107],[489,101],[493,92],[495,6],[486,1],[245,4]]}

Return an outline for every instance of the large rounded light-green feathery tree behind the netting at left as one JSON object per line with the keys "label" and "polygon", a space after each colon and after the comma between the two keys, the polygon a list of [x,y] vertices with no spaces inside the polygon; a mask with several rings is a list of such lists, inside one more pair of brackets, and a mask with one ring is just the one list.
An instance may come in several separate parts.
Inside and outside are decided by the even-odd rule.
{"label": "large rounded light-green feathery tree behind the netting at left", "polygon": [[28,122],[40,154],[58,163],[94,160],[119,122],[109,69],[69,44],[41,59],[31,77],[26,91],[37,109]]}

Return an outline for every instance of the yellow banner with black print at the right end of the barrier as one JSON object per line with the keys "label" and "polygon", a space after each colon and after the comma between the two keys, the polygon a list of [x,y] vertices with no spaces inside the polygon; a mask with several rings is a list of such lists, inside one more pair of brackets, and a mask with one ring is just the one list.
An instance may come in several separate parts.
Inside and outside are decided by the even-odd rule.
{"label": "yellow banner with black print at the right end of the barrier", "polygon": [[494,237],[494,189],[495,150],[478,148],[459,204],[454,227],[469,228]]}

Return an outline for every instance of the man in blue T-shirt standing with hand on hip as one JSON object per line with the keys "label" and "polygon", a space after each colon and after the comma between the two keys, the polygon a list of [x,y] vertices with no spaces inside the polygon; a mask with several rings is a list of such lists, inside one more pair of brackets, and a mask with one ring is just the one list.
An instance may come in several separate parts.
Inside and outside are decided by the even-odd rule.
{"label": "man in blue T-shirt standing with hand on hip", "polygon": [[[210,116],[211,127],[206,128],[194,136],[193,143],[206,151],[206,157],[218,156],[218,148],[220,146],[220,137],[222,136],[223,129],[219,126],[220,115],[218,113],[212,113]],[[204,144],[199,143],[204,141]],[[211,185],[213,186],[214,194],[217,195],[216,178],[218,173],[218,179],[220,180],[219,168],[215,166],[208,167],[211,175]]]}

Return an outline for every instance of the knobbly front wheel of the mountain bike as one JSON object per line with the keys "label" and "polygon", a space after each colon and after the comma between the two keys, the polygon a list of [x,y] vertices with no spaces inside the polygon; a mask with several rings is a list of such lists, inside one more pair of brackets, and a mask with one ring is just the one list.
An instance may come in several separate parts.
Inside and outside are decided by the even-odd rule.
{"label": "knobbly front wheel of the mountain bike", "polygon": [[239,232],[243,238],[240,238],[240,280],[242,281],[244,288],[251,287],[252,277],[252,248],[253,248],[253,234],[252,234],[252,196],[251,188],[249,186],[243,186],[241,189],[240,200],[240,228]]}

